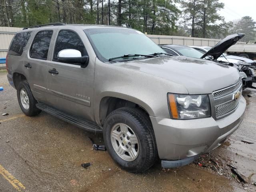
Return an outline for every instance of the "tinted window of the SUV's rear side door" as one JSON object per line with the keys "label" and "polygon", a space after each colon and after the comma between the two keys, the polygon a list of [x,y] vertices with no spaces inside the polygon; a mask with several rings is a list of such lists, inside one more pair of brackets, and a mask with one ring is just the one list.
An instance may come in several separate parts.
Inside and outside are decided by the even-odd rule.
{"label": "tinted window of the SUV's rear side door", "polygon": [[40,31],[36,34],[30,49],[30,57],[36,59],[47,59],[48,50],[53,31]]}

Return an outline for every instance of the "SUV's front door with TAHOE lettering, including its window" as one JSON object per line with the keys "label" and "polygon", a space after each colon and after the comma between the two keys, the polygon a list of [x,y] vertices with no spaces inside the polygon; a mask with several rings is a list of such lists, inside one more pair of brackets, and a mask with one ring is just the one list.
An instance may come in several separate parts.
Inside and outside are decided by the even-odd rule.
{"label": "SUV's front door with TAHOE lettering, including its window", "polygon": [[[80,34],[79,34],[80,33]],[[93,93],[95,60],[90,58],[86,68],[72,63],[59,62],[58,52],[76,49],[82,56],[88,56],[86,44],[82,41],[85,33],[73,30],[59,30],[53,49],[52,62],[47,71],[56,70],[58,74],[48,73],[48,100],[50,106],[88,121],[94,121]]]}

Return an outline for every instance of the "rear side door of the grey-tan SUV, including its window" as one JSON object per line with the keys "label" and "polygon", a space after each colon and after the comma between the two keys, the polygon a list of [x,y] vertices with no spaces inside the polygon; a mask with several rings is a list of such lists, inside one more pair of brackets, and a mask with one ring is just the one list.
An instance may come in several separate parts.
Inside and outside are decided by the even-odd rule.
{"label": "rear side door of the grey-tan SUV, including its window", "polygon": [[54,30],[34,31],[34,38],[24,58],[24,74],[34,98],[40,102],[46,102],[47,64],[49,62],[47,58],[53,34]]}

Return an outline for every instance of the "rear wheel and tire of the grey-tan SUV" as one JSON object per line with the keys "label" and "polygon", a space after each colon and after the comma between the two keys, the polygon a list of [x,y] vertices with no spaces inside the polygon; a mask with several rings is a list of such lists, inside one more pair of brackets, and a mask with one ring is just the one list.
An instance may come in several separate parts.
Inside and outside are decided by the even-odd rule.
{"label": "rear wheel and tire of the grey-tan SUV", "polygon": [[[36,108],[37,101],[35,100],[30,90],[27,80],[24,80],[18,84],[17,97],[20,108],[26,116],[36,116],[41,110]],[[22,98],[25,98],[22,101]]]}

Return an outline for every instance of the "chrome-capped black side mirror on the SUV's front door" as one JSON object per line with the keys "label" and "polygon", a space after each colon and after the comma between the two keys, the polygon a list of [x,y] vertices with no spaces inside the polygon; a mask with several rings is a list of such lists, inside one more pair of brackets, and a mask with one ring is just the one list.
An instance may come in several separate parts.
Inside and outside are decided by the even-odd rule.
{"label": "chrome-capped black side mirror on the SUV's front door", "polygon": [[64,63],[72,63],[86,68],[89,63],[89,56],[82,56],[81,52],[75,49],[63,49],[58,52],[58,61]]}

